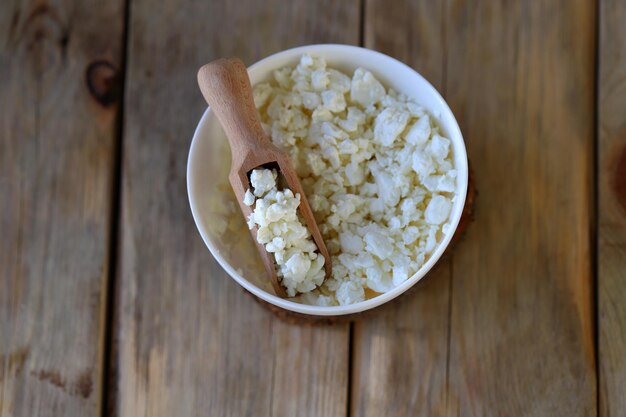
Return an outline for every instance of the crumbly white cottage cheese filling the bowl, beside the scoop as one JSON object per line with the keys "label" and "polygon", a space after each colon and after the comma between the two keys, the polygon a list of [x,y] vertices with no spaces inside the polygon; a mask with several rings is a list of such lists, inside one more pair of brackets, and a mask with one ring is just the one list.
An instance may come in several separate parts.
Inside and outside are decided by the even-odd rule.
{"label": "crumbly white cottage cheese filling the bowl, beside the scoop", "polygon": [[[292,158],[333,262],[321,286],[314,280],[301,288],[295,280],[290,295],[302,293],[298,300],[307,304],[352,304],[413,275],[449,228],[456,184],[450,140],[428,112],[365,69],[350,78],[308,55],[256,85],[254,101],[264,129]],[[257,198],[261,229],[268,210],[257,219],[259,203],[278,201],[279,192],[267,173],[257,175],[246,203]],[[284,201],[298,201],[286,193]],[[289,224],[297,219],[284,215]],[[288,251],[282,241],[266,243],[276,254]],[[313,263],[313,248],[298,245]],[[287,264],[277,264],[287,277]],[[322,265],[315,268],[323,280]]]}

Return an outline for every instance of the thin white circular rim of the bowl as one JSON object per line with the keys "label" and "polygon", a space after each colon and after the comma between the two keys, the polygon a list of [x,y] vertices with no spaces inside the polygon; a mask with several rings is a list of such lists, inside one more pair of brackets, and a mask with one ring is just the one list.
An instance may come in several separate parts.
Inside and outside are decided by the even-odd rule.
{"label": "thin white circular rim of the bowl", "polygon": [[[423,83],[423,86],[426,89],[431,90],[433,97],[435,97],[435,99],[439,101],[440,116],[438,116],[437,119],[440,122],[440,124],[442,124],[442,119],[444,117],[444,114],[448,113],[448,116],[449,116],[448,118],[450,120],[450,123],[446,124],[445,130],[446,130],[447,136],[450,137],[451,140],[453,136],[458,138],[458,140],[456,141],[452,140],[452,144],[453,144],[453,151],[455,152],[455,160],[456,160],[455,168],[457,169],[457,176],[461,178],[462,182],[461,182],[461,186],[457,186],[457,190],[455,190],[455,198],[457,200],[455,201],[453,205],[453,209],[452,209],[453,211],[451,212],[451,216],[453,216],[453,218],[449,222],[450,231],[444,236],[443,240],[439,242],[435,250],[428,257],[426,262],[424,262],[424,264],[420,267],[420,269],[411,277],[409,277],[405,282],[403,282],[399,286],[393,288],[392,290],[386,293],[380,294],[368,300],[360,301],[358,303],[342,305],[342,306],[313,306],[313,305],[308,305],[308,304],[300,304],[300,303],[283,299],[273,294],[270,294],[262,290],[261,288],[255,286],[246,278],[244,278],[221,255],[213,239],[209,236],[208,232],[201,226],[201,221],[200,221],[201,215],[199,213],[199,209],[196,204],[198,196],[194,195],[194,192],[193,192],[193,187],[192,187],[192,180],[194,178],[193,176],[194,170],[192,169],[193,160],[194,160],[194,155],[196,153],[195,150],[198,147],[199,141],[201,140],[200,132],[203,126],[207,123],[208,117],[211,114],[211,109],[208,106],[205,109],[204,113],[202,114],[202,117],[200,118],[200,121],[198,122],[196,129],[194,130],[191,145],[189,147],[189,154],[187,158],[187,171],[186,171],[187,194],[189,198],[189,205],[191,207],[191,213],[192,213],[195,225],[196,225],[196,229],[198,229],[198,232],[200,233],[202,240],[204,241],[205,245],[207,246],[207,248],[209,249],[213,257],[215,258],[215,260],[218,262],[218,264],[239,285],[244,287],[246,290],[248,290],[250,293],[252,293],[256,297],[260,298],[261,300],[266,301],[277,307],[283,308],[285,310],[289,310],[289,311],[293,311],[293,312],[301,313],[301,314],[312,315],[312,316],[341,316],[341,315],[346,315],[346,314],[360,313],[360,312],[375,308],[377,306],[380,306],[382,304],[385,304],[386,302],[391,301],[394,298],[406,292],[409,288],[413,287],[422,278],[424,278],[424,276],[426,276],[428,272],[430,272],[430,270],[439,261],[443,253],[448,248],[448,245],[450,244],[450,241],[452,240],[452,236],[454,235],[454,232],[456,231],[459,225],[459,221],[463,213],[463,207],[465,205],[469,171],[468,171],[467,151],[465,148],[465,141],[463,139],[463,135],[461,133],[461,129],[459,128],[458,122],[456,118],[454,117],[454,114],[452,113],[452,110],[450,109],[446,101],[443,99],[441,94],[437,91],[435,87],[433,87],[433,85],[430,82],[428,82],[428,80],[426,80],[416,70],[414,70],[413,68],[409,67],[408,65],[404,64],[403,62],[395,58],[392,58],[381,52],[363,48],[360,46],[343,45],[343,44],[311,44],[311,45],[304,45],[304,46],[298,46],[295,48],[286,49],[286,50],[277,52],[275,54],[269,55],[266,58],[263,58],[260,61],[257,61],[255,64],[248,67],[248,72],[252,74],[255,71],[255,69],[263,65],[266,65],[274,60],[279,60],[281,58],[284,58],[286,56],[292,57],[292,56],[302,55],[304,53],[314,54],[317,51],[322,51],[322,52],[323,51],[340,51],[340,52],[344,52],[346,56],[349,56],[350,54],[355,54],[355,53],[365,54],[365,55],[370,55],[371,57],[375,56],[379,60],[382,59],[383,61],[387,61],[388,63],[393,64],[394,66],[400,67],[402,68],[403,71],[407,71],[407,73],[411,74],[411,76],[415,77],[416,79],[419,79],[420,82]],[[384,70],[380,70],[380,67],[378,68],[372,67],[368,69],[375,73],[384,72]],[[428,109],[428,110],[431,111],[431,114],[432,114],[432,110],[431,109]],[[458,161],[461,162],[462,166],[456,166],[457,165],[456,162]]]}

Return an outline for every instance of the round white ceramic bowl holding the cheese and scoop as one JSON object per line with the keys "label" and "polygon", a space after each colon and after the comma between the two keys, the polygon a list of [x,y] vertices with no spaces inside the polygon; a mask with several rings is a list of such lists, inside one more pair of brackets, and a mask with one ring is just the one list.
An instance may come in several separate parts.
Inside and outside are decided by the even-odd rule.
{"label": "round white ceramic bowl holding the cheese and scoop", "polygon": [[[444,235],[424,265],[402,285],[375,298],[356,304],[319,307],[299,304],[274,295],[261,266],[261,260],[247,232],[243,216],[228,218],[238,210],[228,188],[230,150],[224,133],[210,109],[207,109],[193,135],[187,163],[189,203],[196,226],[207,247],[226,272],[257,297],[298,313],[335,316],[358,313],[393,300],[418,282],[435,265],[461,218],[467,191],[468,168],[465,144],[452,111],[435,88],[405,64],[379,52],[349,45],[310,45],[289,49],[252,65],[248,72],[252,85],[271,78],[272,71],[294,66],[302,54],[326,59],[328,66],[351,75],[358,67],[370,70],[386,88],[404,93],[423,105],[434,116],[452,141],[455,167],[458,171],[456,200],[451,211],[451,228]],[[233,223],[234,222],[234,223]],[[241,235],[239,234],[241,233]]]}

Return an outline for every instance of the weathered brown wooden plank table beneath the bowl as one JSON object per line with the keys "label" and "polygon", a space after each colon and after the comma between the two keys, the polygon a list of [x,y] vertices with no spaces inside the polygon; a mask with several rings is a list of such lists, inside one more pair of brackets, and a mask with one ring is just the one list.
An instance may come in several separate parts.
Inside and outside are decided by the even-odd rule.
{"label": "weathered brown wooden plank table beneath the bowl", "polygon": [[[308,43],[425,75],[475,221],[364,319],[277,319],[187,203],[195,73]],[[0,415],[626,416],[626,2],[4,0]]]}

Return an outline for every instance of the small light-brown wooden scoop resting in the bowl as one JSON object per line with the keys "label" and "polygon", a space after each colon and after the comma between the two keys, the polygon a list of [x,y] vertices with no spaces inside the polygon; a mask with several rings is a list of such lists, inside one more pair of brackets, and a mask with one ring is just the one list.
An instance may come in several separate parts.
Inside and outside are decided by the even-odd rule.
{"label": "small light-brown wooden scoop resting in the bowl", "polygon": [[[254,106],[248,71],[243,62],[237,58],[229,58],[206,64],[198,71],[198,84],[202,95],[228,137],[232,153],[228,178],[245,218],[247,219],[252,212],[251,207],[243,204],[246,190],[252,188],[249,180],[251,171],[259,167],[278,167],[279,174],[283,175],[289,188],[294,193],[300,194],[300,214],[319,252],[326,259],[324,268],[328,278],[332,270],[328,250],[289,156],[271,143],[261,127],[259,115]],[[285,298],[287,293],[278,282],[274,256],[257,242],[256,229],[256,227],[252,229],[251,233],[263,258],[267,275],[272,281],[276,294]]]}

